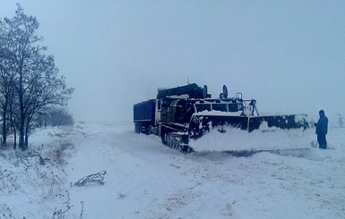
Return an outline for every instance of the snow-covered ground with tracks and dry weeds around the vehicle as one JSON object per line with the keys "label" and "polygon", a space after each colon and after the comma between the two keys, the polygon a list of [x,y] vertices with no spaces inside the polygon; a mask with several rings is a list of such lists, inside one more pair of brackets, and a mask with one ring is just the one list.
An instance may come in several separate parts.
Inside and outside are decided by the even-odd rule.
{"label": "snow-covered ground with tracks and dry weeds around the vehicle", "polygon": [[[29,154],[0,150],[0,218],[345,218],[345,129],[327,138],[231,156],[180,153],[131,125],[41,130]],[[104,185],[74,185],[102,171]]]}

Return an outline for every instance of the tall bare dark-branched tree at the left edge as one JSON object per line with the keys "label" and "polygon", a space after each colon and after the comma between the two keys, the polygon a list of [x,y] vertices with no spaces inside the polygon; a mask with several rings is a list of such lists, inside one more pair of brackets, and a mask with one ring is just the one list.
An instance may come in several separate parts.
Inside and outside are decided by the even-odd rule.
{"label": "tall bare dark-branched tree at the left edge", "polygon": [[3,50],[13,66],[12,122],[18,130],[19,147],[26,150],[35,115],[50,105],[66,105],[73,88],[67,88],[65,77],[58,75],[54,57],[45,55],[47,46],[39,45],[39,21],[26,15],[20,4],[12,19],[4,18],[2,29],[6,36]]}

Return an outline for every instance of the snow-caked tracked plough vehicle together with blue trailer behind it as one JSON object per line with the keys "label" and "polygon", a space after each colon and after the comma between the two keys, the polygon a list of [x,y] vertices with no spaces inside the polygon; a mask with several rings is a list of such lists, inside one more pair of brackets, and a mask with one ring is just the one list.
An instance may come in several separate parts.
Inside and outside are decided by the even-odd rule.
{"label": "snow-caked tracked plough vehicle together with blue trailer behind it", "polygon": [[134,105],[135,132],[186,152],[309,147],[306,114],[262,115],[256,100],[228,96],[225,85],[217,98],[196,84],[159,88],[157,98]]}

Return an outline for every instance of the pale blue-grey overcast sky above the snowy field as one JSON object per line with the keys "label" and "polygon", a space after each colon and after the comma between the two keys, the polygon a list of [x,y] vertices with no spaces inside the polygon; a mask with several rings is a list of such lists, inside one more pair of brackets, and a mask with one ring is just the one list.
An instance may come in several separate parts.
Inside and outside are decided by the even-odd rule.
{"label": "pale blue-grey overcast sky above the snowy field", "polygon": [[[189,79],[264,113],[345,116],[345,1],[22,0],[75,88],[75,120],[132,122],[134,103]],[[0,0],[0,17],[16,1]]]}

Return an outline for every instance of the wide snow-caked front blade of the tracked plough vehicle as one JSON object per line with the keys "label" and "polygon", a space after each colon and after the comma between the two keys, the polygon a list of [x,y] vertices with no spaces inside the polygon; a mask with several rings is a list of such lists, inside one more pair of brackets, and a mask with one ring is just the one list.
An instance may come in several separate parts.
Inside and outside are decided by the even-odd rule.
{"label": "wide snow-caked front blade of the tracked plough vehicle", "polygon": [[310,147],[306,114],[202,115],[189,124],[195,151],[266,151]]}

